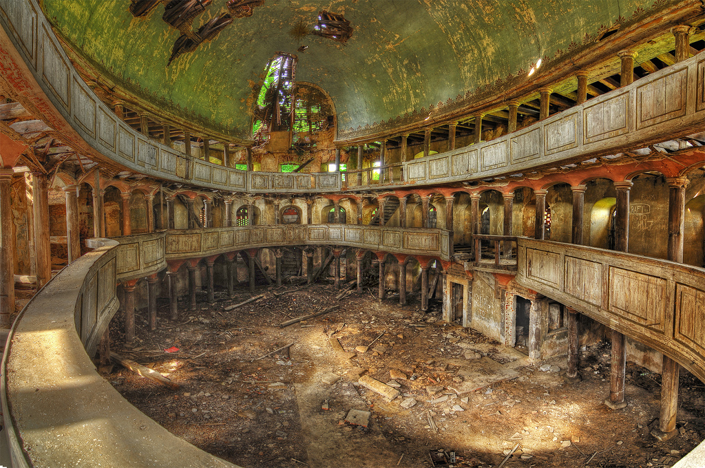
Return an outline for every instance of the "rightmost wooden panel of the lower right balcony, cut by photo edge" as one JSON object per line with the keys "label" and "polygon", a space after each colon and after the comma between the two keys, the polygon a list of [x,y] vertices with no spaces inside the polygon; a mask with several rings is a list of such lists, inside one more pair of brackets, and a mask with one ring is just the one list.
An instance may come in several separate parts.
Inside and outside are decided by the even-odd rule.
{"label": "rightmost wooden panel of the lower right balcony, cut by photo edge", "polygon": [[674,335],[680,343],[705,355],[705,291],[676,285]]}

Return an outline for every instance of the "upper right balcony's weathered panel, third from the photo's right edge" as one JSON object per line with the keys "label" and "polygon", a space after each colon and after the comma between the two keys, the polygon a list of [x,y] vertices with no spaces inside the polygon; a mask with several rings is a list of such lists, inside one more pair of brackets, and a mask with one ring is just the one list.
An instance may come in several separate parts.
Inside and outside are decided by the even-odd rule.
{"label": "upper right balcony's weathered panel, third from the photo's right edge", "polygon": [[629,131],[629,93],[588,106],[583,115],[585,143],[624,135]]}

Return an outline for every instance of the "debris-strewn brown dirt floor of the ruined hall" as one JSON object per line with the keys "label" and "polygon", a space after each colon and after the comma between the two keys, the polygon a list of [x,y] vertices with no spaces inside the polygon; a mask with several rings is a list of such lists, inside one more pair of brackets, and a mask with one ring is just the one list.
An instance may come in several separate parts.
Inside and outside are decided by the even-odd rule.
{"label": "debris-strewn brown dirt floor of the ruined hall", "polygon": [[[180,301],[176,323],[162,318],[168,311],[160,301],[157,331],[138,312],[131,346],[118,313],[112,350],[180,390],[120,366],[103,369],[104,376],[172,433],[243,467],[429,467],[451,452],[456,467],[498,467],[513,449],[504,467],[668,467],[705,438],[705,386],[685,371],[680,436],[670,441],[649,435],[658,424],[660,375],[629,363],[629,405],[603,405],[609,343],[583,350],[582,381],[566,383],[565,357],[529,362],[471,329],[444,324],[440,304],[419,312],[415,295],[405,307],[396,295],[380,304],[368,288],[336,302],[338,291],[325,284],[274,295],[292,289],[258,288],[255,295],[267,293],[262,300],[231,312],[223,308],[251,297],[244,288],[233,299],[216,292],[213,305],[199,293],[197,311]],[[375,338],[367,352],[355,349]],[[266,356],[290,343],[288,352]],[[178,351],[165,352],[171,347]],[[401,395],[390,401],[359,385],[360,376]],[[364,422],[350,410],[363,418],[370,412],[367,427],[345,421]]]}

